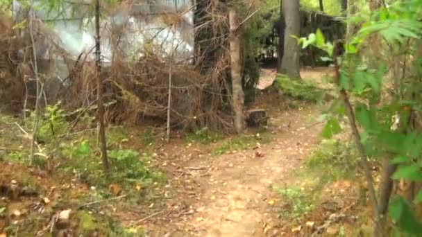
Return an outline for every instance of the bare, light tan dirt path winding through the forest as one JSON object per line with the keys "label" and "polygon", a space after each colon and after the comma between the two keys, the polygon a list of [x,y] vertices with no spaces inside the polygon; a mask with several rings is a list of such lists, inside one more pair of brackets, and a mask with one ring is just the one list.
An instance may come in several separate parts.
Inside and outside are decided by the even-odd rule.
{"label": "bare, light tan dirt path winding through the forest", "polygon": [[[310,118],[317,107],[272,114],[271,143],[255,150],[192,161],[207,167],[207,176],[197,175],[204,192],[193,205],[196,210],[184,223],[192,236],[271,236],[277,234],[277,213],[271,211],[270,184],[288,179],[289,171],[301,166],[319,142],[321,125]],[[271,202],[270,202],[271,203]],[[273,228],[276,227],[276,228]],[[266,233],[264,233],[266,232]]]}

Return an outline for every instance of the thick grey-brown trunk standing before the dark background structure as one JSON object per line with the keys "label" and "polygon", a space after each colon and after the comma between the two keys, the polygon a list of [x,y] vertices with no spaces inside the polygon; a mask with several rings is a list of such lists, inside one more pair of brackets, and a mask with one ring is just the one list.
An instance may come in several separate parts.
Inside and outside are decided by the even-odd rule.
{"label": "thick grey-brown trunk standing before the dark background structure", "polygon": [[282,57],[281,71],[289,78],[300,79],[299,46],[292,35],[300,36],[301,19],[299,15],[299,0],[282,1],[282,15],[285,17],[285,46]]}

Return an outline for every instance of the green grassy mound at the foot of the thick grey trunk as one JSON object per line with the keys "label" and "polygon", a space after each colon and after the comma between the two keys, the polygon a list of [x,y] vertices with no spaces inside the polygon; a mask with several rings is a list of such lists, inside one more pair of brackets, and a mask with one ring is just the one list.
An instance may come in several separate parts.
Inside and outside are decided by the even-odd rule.
{"label": "green grassy mound at the foot of the thick grey trunk", "polygon": [[328,92],[326,89],[321,89],[312,85],[310,82],[304,80],[291,80],[285,75],[278,74],[276,78],[276,87],[287,96],[298,98],[300,100],[309,100],[312,102],[319,102],[323,100]]}

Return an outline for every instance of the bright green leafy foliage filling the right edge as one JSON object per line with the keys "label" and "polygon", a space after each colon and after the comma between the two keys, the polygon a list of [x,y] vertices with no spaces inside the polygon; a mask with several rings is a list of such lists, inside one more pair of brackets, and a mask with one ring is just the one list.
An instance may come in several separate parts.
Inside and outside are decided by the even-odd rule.
{"label": "bright green leafy foliage filling the right edge", "polygon": [[[403,90],[409,88],[404,82],[409,82],[411,87],[421,89],[418,80],[403,78],[398,94],[391,98],[389,103],[378,103],[382,94],[382,84],[385,81],[388,61],[366,64],[360,57],[360,49],[364,44],[371,42],[371,36],[378,35],[380,40],[392,50],[391,53],[403,52],[414,55],[419,47],[422,32],[421,0],[396,1],[389,8],[380,8],[372,12],[371,18],[359,19],[362,24],[359,32],[346,42],[341,70],[339,71],[339,89],[356,96],[360,102],[353,107],[355,119],[362,128],[362,143],[366,155],[373,157],[393,157],[391,162],[398,164],[393,179],[405,179],[410,182],[422,182],[422,134],[414,130],[410,121],[410,111],[421,109],[421,100]],[[332,57],[332,44],[325,42],[319,32],[307,38],[298,40],[305,48],[314,45],[323,49]],[[381,42],[377,42],[380,44]],[[337,59],[336,59],[337,60]],[[380,60],[378,58],[378,60]],[[413,64],[414,71],[419,71],[421,64]],[[407,79],[407,80],[406,80]],[[414,91],[411,89],[410,91]],[[340,114],[341,115],[341,114]],[[398,116],[400,120],[391,124],[391,118]],[[328,119],[323,130],[325,137],[339,132],[337,121]],[[415,202],[421,201],[421,193],[416,196]],[[414,236],[422,235],[422,224],[414,216],[412,207],[400,196],[393,198],[389,205],[389,216],[394,223],[395,233],[404,233]],[[400,236],[400,234],[399,234]]]}

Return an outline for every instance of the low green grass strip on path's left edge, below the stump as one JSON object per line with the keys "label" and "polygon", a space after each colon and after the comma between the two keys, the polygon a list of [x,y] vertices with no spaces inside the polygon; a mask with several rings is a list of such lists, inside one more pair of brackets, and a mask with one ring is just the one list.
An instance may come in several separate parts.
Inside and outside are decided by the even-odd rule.
{"label": "low green grass strip on path's left edge, below the stump", "polygon": [[212,150],[212,155],[223,155],[230,151],[241,151],[252,149],[262,143],[269,143],[271,134],[269,132],[261,132],[257,134],[242,134],[231,137],[228,141],[224,141],[221,146]]}

